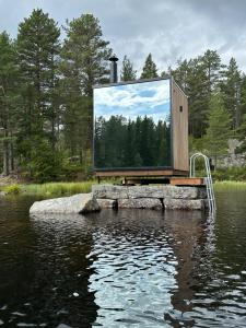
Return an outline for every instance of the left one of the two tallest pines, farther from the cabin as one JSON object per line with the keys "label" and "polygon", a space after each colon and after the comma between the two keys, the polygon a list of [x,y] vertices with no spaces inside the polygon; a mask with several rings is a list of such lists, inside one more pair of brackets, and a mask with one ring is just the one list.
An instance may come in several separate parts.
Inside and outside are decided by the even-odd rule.
{"label": "left one of the two tallest pines, farther from the cabin", "polygon": [[[31,175],[38,147],[44,140],[55,152],[56,84],[60,31],[40,9],[19,25],[16,40],[20,66],[21,110],[17,147]],[[48,165],[48,163],[47,163]],[[33,167],[33,168],[32,168]]]}

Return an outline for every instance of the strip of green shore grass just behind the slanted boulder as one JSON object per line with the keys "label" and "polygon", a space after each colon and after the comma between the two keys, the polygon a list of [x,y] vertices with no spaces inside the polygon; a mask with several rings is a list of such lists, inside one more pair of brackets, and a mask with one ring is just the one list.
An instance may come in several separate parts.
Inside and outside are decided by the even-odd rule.
{"label": "strip of green shore grass just behind the slanted boulder", "polygon": [[71,196],[74,194],[91,192],[92,185],[95,180],[83,183],[48,183],[48,184],[31,184],[21,185],[22,194],[36,195],[43,197],[49,196]]}

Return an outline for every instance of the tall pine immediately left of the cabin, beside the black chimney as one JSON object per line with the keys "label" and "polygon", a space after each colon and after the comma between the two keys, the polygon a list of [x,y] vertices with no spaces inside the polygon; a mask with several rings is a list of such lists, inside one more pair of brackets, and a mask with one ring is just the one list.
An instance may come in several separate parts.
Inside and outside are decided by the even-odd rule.
{"label": "tall pine immediately left of the cabin, beside the black chimney", "polygon": [[92,14],[68,22],[66,32],[60,65],[65,139],[70,155],[79,155],[82,163],[92,143],[93,85],[108,81],[112,49]]}

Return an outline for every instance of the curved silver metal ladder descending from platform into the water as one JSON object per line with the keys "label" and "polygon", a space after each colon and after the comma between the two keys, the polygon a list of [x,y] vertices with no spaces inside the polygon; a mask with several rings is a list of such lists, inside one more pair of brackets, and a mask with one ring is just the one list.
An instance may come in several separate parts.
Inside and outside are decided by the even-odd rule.
{"label": "curved silver metal ladder descending from platform into the water", "polygon": [[206,166],[206,173],[207,177],[204,177],[206,181],[206,188],[207,188],[207,195],[208,195],[208,201],[209,201],[209,213],[210,215],[214,215],[216,211],[216,203],[215,203],[215,197],[214,197],[214,190],[213,190],[213,181],[210,171],[210,164],[209,159],[202,154],[202,153],[196,153],[190,156],[189,159],[189,176],[195,177],[196,175],[196,160],[198,157],[202,157],[204,160],[204,166]]}

